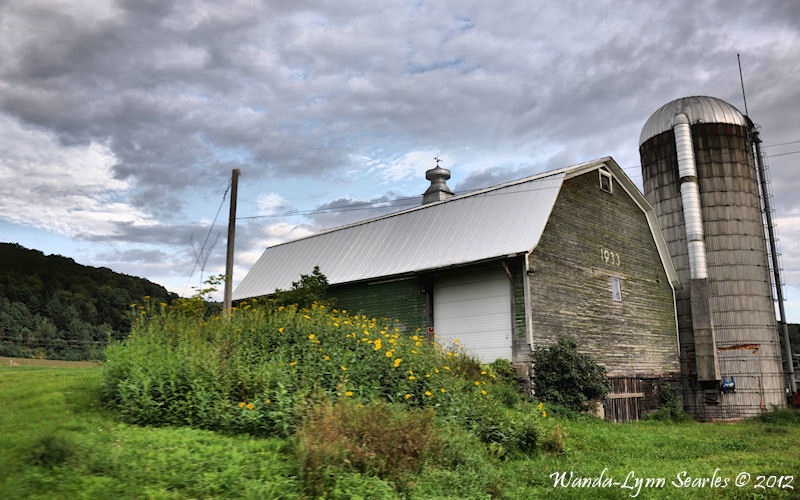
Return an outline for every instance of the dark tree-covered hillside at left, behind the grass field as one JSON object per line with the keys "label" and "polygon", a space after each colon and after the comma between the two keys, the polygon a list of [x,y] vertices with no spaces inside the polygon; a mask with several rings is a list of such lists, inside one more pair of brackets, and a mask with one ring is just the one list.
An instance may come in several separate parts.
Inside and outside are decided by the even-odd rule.
{"label": "dark tree-covered hillside at left, behind the grass field", "polygon": [[97,359],[130,331],[131,304],[177,295],[144,278],[0,243],[0,355]]}

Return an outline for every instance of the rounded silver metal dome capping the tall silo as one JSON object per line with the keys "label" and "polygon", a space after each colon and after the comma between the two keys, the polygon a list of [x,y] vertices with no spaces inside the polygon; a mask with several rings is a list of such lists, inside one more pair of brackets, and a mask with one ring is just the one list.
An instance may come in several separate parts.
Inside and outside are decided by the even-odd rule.
{"label": "rounded silver metal dome capping the tall silo", "polygon": [[682,97],[661,106],[650,115],[639,135],[639,145],[667,130],[672,130],[675,117],[683,113],[689,125],[696,123],[728,123],[747,126],[747,118],[722,99],[708,96]]}

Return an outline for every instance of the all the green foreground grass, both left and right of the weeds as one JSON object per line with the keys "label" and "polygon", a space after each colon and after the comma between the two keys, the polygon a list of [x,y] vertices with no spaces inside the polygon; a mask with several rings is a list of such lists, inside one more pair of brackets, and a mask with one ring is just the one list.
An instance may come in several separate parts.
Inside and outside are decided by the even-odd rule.
{"label": "all the green foreground grass, both left and right of the weeds", "polygon": [[[123,424],[99,403],[101,375],[0,367],[0,498],[304,498],[291,439]],[[796,412],[733,424],[556,419],[564,453],[462,456],[425,469],[406,496],[800,497]],[[397,497],[367,472],[336,484],[329,498]]]}

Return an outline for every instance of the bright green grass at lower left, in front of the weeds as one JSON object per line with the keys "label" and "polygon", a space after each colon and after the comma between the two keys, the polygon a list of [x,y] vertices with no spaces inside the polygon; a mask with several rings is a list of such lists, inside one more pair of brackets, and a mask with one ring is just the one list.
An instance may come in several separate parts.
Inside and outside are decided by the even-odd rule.
{"label": "bright green grass at lower left, in front of the weeds", "polygon": [[0,498],[297,498],[279,439],[115,420],[101,369],[0,369]]}

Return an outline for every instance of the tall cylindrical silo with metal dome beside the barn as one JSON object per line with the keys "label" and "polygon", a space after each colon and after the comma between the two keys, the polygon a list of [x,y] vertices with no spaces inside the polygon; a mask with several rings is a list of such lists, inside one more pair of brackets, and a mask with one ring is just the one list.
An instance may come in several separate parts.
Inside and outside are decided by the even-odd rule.
{"label": "tall cylindrical silo with metal dome beside the barn", "polygon": [[749,120],[685,97],[647,120],[644,193],[681,280],[676,307],[686,410],[752,417],[786,405]]}

